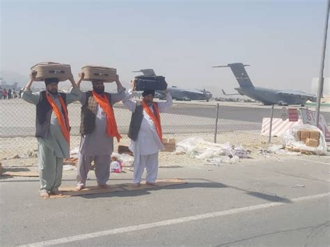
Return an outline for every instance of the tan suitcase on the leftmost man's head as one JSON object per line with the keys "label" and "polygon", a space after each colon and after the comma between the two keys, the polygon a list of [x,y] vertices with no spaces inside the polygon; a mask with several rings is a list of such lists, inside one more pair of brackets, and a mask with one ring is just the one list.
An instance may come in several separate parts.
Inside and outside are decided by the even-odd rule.
{"label": "tan suitcase on the leftmost man's head", "polygon": [[35,81],[45,81],[46,78],[58,78],[59,81],[66,81],[71,77],[71,67],[68,64],[42,62],[31,67],[36,72]]}

